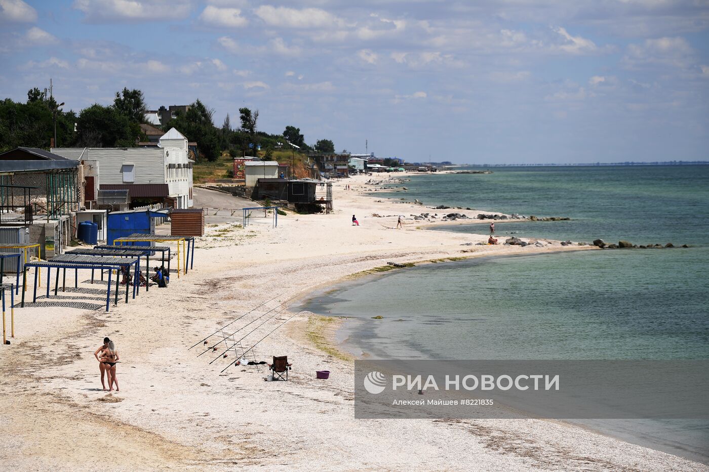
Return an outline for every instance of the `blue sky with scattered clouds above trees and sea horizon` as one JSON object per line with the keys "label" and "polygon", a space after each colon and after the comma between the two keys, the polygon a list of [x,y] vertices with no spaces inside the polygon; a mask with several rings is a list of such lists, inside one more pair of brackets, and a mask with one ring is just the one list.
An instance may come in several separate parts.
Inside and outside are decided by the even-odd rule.
{"label": "blue sky with scattered clouds above trees and sea horizon", "polygon": [[709,160],[709,0],[0,0],[0,98],[128,87],[409,162]]}

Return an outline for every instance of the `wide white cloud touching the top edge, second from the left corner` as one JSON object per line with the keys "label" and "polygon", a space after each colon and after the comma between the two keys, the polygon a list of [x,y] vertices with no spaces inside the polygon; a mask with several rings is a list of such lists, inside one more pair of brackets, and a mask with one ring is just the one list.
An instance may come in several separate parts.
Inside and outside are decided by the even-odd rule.
{"label": "wide white cloud touching the top edge, second from the left corner", "polygon": [[83,11],[94,23],[175,20],[189,16],[191,0],[74,0],[74,9]]}

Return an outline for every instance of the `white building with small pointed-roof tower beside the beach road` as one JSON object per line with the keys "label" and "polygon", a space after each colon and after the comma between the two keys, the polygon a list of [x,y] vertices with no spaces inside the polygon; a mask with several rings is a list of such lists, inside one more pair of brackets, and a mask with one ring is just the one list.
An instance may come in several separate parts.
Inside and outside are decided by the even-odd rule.
{"label": "white building with small pointed-roof tower beside the beach road", "polygon": [[162,203],[191,208],[192,164],[187,139],[172,128],[157,147],[59,147],[52,152],[67,159],[98,163],[98,188],[127,189],[133,205]]}

